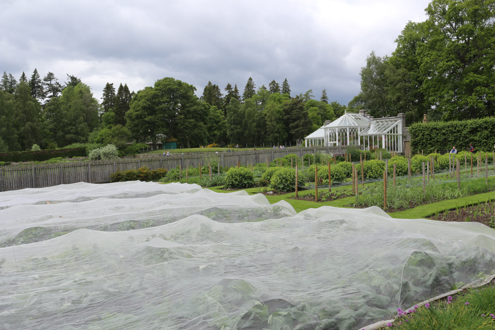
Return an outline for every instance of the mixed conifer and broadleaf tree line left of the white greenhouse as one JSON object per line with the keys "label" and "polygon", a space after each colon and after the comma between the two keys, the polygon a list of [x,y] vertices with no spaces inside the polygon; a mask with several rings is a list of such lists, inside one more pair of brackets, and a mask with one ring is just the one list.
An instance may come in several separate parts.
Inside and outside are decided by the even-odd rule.
{"label": "mixed conifer and broadleaf tree line left of the white greenhouse", "polygon": [[0,151],[44,149],[112,143],[120,150],[133,142],[175,139],[182,147],[295,143],[342,115],[345,105],[320,100],[312,90],[291,96],[287,79],[256,86],[249,78],[241,95],[237,84],[222,93],[208,82],[197,97],[196,88],[174,78],[163,78],[138,93],[127,84],[117,91],[103,89],[101,103],[81,79],[68,75],[61,84],[49,72],[41,79],[19,80],[3,73],[0,81]]}

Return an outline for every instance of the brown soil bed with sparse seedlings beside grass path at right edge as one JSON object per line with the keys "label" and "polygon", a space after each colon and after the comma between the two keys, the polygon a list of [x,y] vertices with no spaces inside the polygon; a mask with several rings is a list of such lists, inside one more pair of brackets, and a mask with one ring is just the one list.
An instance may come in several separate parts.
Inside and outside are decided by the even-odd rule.
{"label": "brown soil bed with sparse seedlings beside grass path at right edge", "polygon": [[[485,212],[485,208],[487,212]],[[450,210],[444,213],[439,213],[438,216],[433,215],[427,219],[447,222],[465,222],[466,219],[468,219],[470,222],[479,222],[493,228],[493,225],[490,224],[490,221],[494,220],[494,212],[492,212],[492,209],[493,203],[480,203],[479,206],[468,206],[466,209],[464,209],[464,207],[460,207],[458,211]],[[475,212],[476,218],[474,217]]]}

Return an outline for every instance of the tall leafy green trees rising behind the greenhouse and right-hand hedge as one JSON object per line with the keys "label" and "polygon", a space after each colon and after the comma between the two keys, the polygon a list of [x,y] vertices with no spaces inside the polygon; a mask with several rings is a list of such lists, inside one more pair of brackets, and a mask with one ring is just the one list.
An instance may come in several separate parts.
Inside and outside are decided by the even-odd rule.
{"label": "tall leafy green trees rising behind the greenhouse and right-hand hedge", "polygon": [[495,114],[495,1],[433,0],[424,22],[409,21],[391,56],[374,51],[349,106],[408,123]]}

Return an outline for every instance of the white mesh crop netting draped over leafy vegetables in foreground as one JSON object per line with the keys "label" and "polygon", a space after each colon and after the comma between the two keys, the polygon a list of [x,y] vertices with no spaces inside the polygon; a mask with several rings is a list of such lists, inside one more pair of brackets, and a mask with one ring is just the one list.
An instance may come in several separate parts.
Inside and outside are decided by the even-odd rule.
{"label": "white mesh crop netting draped over leafy vegetables in foreground", "polygon": [[0,329],[362,329],[495,273],[494,230],[377,207],[143,182],[0,207]]}

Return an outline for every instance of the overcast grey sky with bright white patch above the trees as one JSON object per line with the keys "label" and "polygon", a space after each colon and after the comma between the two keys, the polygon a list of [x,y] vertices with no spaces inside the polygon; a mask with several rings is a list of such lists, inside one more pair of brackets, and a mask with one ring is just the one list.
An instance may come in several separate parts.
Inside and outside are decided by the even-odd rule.
{"label": "overcast grey sky with bright white patch above the trees", "polygon": [[[252,77],[256,89],[287,78],[291,95],[347,104],[372,51],[395,49],[407,21],[424,21],[429,0],[0,0],[0,70],[17,79],[51,71],[89,85],[139,91],[173,77],[201,96]],[[0,74],[1,74],[0,73]]]}

